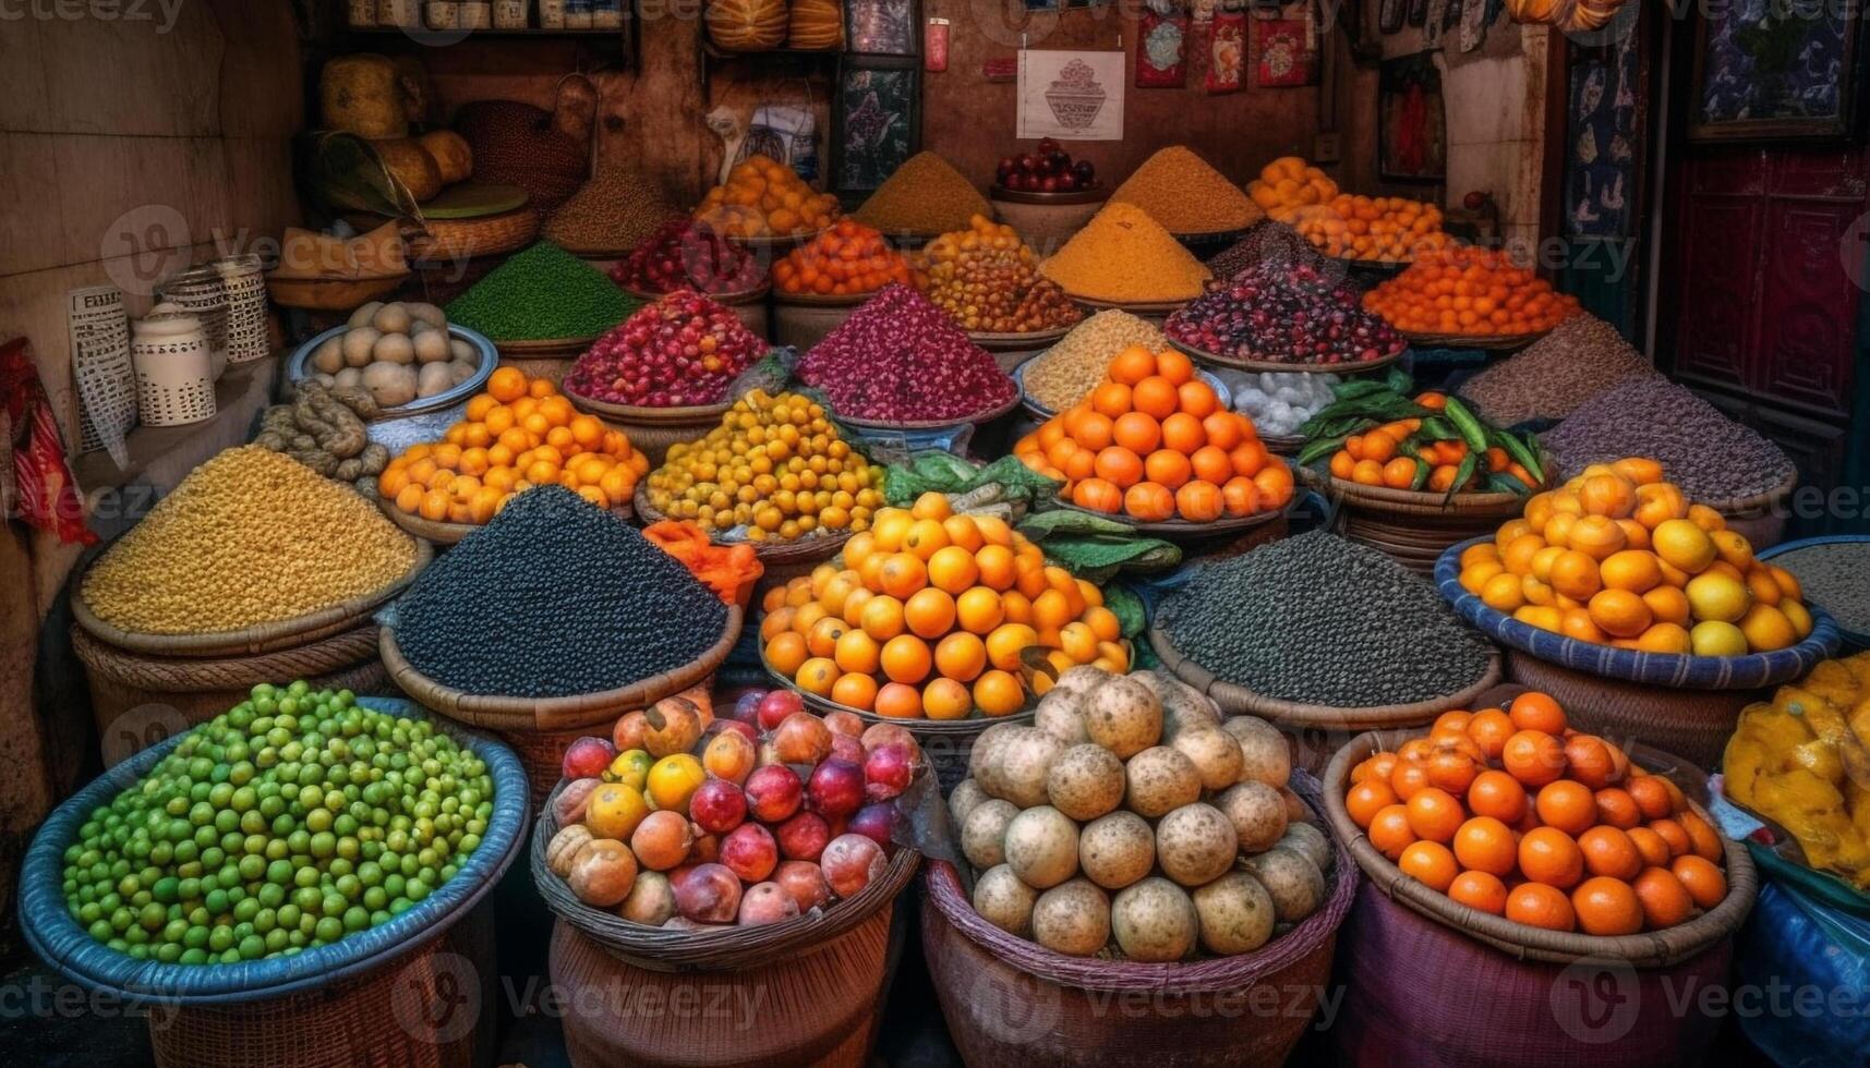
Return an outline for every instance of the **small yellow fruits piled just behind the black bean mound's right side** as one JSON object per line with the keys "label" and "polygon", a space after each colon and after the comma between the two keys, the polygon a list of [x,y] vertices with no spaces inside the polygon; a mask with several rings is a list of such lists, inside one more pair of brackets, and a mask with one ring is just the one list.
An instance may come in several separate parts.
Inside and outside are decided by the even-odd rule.
{"label": "small yellow fruits piled just behind the black bean mound's right side", "polygon": [[649,503],[712,533],[746,527],[755,542],[864,531],[883,503],[883,468],[851,449],[821,404],[754,389],[705,438],[669,445]]}

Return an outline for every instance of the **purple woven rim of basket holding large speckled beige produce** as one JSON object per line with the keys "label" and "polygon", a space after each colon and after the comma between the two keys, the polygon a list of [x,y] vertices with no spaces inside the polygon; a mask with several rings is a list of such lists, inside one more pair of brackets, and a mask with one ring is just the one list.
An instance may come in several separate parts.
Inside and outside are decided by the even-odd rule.
{"label": "purple woven rim of basket holding large speckled beige produce", "polygon": [[[1318,808],[1316,780],[1294,769],[1292,786],[1305,799],[1307,808]],[[931,859],[928,862],[924,887],[928,888],[929,903],[957,931],[967,935],[969,941],[997,960],[1042,980],[1073,989],[1148,989],[1165,995],[1236,991],[1253,986],[1264,976],[1281,973],[1307,954],[1326,950],[1330,937],[1345,922],[1358,894],[1358,868],[1350,862],[1350,855],[1335,838],[1331,851],[1333,864],[1326,872],[1326,879],[1331,885],[1318,911],[1300,920],[1292,930],[1273,935],[1272,941],[1253,952],[1178,963],[1075,958],[1010,935],[974,911],[974,905],[961,890],[959,872],[948,860]]]}

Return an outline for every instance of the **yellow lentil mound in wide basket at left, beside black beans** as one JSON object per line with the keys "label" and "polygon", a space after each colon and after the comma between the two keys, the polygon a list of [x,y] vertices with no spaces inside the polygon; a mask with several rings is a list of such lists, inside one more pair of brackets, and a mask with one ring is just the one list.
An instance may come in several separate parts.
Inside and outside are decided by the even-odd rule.
{"label": "yellow lentil mound in wide basket at left, beside black beans", "polygon": [[217,634],[363,597],[415,539],[348,486],[258,445],[189,473],[84,574],[90,610],[137,634]]}

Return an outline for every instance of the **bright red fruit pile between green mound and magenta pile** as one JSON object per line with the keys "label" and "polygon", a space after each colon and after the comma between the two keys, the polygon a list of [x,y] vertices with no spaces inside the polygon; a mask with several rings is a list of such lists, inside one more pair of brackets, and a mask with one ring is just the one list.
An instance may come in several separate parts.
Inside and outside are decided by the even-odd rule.
{"label": "bright red fruit pile between green mound and magenta pile", "polygon": [[767,350],[731,309],[675,290],[597,339],[565,376],[565,391],[638,408],[720,404]]}

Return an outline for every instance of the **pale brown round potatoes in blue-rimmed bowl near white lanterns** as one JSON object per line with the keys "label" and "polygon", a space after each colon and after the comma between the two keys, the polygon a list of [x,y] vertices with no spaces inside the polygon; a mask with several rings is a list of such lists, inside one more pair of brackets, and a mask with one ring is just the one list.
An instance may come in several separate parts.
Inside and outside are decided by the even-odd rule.
{"label": "pale brown round potatoes in blue-rimmed bowl near white lanterns", "polygon": [[381,408],[434,397],[473,378],[481,354],[449,337],[449,320],[436,305],[370,301],[352,312],[344,333],[331,335],[305,363],[324,385],[359,385]]}

